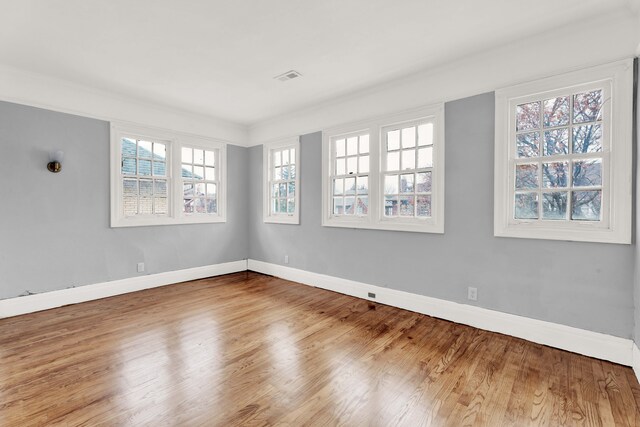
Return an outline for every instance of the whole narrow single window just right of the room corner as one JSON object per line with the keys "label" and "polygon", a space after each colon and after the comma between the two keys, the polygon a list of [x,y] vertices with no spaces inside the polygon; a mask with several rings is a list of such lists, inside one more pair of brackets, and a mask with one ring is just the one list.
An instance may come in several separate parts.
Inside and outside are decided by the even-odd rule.
{"label": "whole narrow single window just right of the room corner", "polygon": [[300,223],[300,142],[264,145],[264,222]]}

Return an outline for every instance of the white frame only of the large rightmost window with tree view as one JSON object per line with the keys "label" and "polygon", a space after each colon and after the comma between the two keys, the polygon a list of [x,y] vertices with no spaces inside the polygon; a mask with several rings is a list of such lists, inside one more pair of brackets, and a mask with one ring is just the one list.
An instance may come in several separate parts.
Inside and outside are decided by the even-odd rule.
{"label": "white frame only of the large rightmost window with tree view", "polygon": [[[608,143],[603,144],[599,156],[605,164],[602,176],[602,220],[515,219],[515,107],[534,100],[561,96],[569,91],[594,89],[595,86],[605,88],[605,92],[611,94],[610,105],[603,116],[603,138]],[[631,243],[633,60],[500,89],[495,97],[494,235]]]}

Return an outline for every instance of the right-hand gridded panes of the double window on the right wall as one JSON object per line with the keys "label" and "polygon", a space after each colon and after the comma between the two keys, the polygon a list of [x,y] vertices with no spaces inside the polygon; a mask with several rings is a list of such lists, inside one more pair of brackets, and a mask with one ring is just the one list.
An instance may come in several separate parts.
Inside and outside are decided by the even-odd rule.
{"label": "right-hand gridded panes of the double window on the right wall", "polygon": [[383,128],[385,217],[431,217],[433,123]]}

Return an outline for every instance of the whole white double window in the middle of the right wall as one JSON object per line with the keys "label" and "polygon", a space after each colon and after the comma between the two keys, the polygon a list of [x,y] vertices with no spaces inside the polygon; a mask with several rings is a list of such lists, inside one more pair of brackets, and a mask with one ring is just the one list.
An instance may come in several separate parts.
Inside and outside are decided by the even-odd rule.
{"label": "whole white double window in the middle of the right wall", "polygon": [[444,232],[443,107],[324,133],[323,225]]}

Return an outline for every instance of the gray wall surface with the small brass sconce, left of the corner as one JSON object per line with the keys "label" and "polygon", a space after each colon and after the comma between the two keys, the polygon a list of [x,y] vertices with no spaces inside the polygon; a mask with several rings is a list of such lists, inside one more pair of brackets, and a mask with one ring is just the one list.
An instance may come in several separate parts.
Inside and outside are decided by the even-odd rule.
{"label": "gray wall surface with the small brass sconce, left of the corner", "polygon": [[[118,229],[108,122],[0,102],[0,148],[0,299],[247,256],[246,148],[228,148],[227,223]],[[57,175],[45,168],[54,148]]]}

